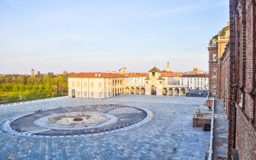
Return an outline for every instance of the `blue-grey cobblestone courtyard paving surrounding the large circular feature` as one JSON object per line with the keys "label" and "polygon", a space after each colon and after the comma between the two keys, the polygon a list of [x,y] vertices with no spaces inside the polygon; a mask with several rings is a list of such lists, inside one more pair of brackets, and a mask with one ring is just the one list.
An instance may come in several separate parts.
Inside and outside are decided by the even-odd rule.
{"label": "blue-grey cobblestone courtyard paving surrounding the large circular feature", "polygon": [[209,132],[192,127],[201,97],[122,95],[113,99],[60,99],[0,108],[0,123],[10,116],[58,106],[124,104],[154,111],[154,119],[127,131],[81,138],[22,138],[0,131],[0,159],[204,159]]}

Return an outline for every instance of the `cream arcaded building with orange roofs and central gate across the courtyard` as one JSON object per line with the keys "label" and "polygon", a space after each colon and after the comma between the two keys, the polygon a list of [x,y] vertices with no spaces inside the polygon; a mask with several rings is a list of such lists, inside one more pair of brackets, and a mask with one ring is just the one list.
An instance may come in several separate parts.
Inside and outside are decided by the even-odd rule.
{"label": "cream arcaded building with orange roofs and central gate across the courtyard", "polygon": [[188,85],[180,84],[184,74],[159,70],[153,67],[148,73],[86,72],[68,77],[68,96],[92,99],[107,99],[115,95],[172,95],[184,96]]}

